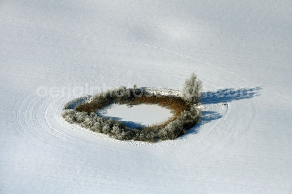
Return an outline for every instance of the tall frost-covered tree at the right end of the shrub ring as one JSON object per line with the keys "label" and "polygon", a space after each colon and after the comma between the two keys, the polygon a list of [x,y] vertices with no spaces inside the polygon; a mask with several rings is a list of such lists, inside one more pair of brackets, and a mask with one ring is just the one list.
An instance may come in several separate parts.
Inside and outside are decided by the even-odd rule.
{"label": "tall frost-covered tree at the right end of the shrub ring", "polygon": [[198,79],[195,73],[192,73],[191,77],[185,80],[185,85],[182,91],[183,99],[190,104],[198,103],[202,94],[202,87],[202,82]]}

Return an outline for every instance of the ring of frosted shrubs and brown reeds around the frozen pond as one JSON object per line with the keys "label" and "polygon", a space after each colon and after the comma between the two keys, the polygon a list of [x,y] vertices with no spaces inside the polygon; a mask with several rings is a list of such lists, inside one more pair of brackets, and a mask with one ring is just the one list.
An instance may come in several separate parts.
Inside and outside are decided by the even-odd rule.
{"label": "ring of frosted shrubs and brown reeds around the frozen pond", "polygon": [[[193,74],[192,76],[196,75]],[[188,81],[190,79],[195,83]],[[201,117],[201,111],[195,104],[199,101],[200,88],[190,89],[190,87],[200,87],[201,82],[197,78],[192,79],[191,77],[190,79],[186,80],[183,97],[155,95],[147,92],[146,89],[137,89],[137,86],[134,86],[134,88],[122,86],[114,90],[100,92],[93,96],[90,101],[83,101],[72,109],[69,105],[66,105],[61,114],[71,124],[107,134],[118,140],[147,142],[172,140],[183,135],[187,129],[197,124]],[[191,86],[188,87],[187,84],[189,83]],[[109,103],[159,104],[169,108],[173,113],[173,118],[158,125],[131,128],[121,121],[100,117],[96,114],[98,109],[107,106]]]}

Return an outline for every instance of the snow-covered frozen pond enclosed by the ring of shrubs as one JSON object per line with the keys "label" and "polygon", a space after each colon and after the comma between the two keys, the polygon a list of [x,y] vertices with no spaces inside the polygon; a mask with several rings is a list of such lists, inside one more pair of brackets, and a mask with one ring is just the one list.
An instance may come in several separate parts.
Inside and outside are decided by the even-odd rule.
{"label": "snow-covered frozen pond enclosed by the ring of shrubs", "polygon": [[159,123],[172,117],[169,109],[159,105],[127,105],[112,104],[101,110],[98,115],[123,121],[130,127],[146,126]]}

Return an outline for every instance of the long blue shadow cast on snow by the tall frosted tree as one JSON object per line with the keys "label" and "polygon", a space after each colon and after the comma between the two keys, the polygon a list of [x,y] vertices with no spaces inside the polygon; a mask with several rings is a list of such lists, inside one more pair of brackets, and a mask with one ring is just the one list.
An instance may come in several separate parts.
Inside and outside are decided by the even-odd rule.
{"label": "long blue shadow cast on snow by the tall frosted tree", "polygon": [[226,88],[218,89],[216,91],[206,91],[202,93],[202,104],[218,104],[224,102],[232,102],[235,100],[243,100],[258,96],[258,91],[263,87],[255,88]]}

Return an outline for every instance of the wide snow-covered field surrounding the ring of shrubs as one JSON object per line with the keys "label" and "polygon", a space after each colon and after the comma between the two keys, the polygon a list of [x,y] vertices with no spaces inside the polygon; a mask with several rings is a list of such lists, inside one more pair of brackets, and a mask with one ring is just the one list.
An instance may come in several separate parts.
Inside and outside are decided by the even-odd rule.
{"label": "wide snow-covered field surrounding the ring of shrubs", "polygon": [[[284,0],[0,1],[0,193],[291,193],[291,18]],[[176,140],[60,116],[101,89],[181,89],[193,71],[203,117]]]}

